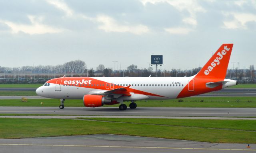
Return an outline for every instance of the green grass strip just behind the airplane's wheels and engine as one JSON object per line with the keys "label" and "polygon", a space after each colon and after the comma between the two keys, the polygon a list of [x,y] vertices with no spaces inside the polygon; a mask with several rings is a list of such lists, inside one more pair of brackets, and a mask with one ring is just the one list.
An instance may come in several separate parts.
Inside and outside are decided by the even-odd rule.
{"label": "green grass strip just behind the airplane's wheels and engine", "polygon": [[[26,96],[25,96],[26,97]],[[138,100],[138,107],[224,107],[224,108],[256,108],[256,97],[189,97],[173,100]],[[44,102],[44,104],[41,104]],[[130,102],[125,102],[128,106]],[[21,100],[0,100],[0,106],[56,106],[60,105],[59,99],[28,99],[28,102]],[[84,106],[83,100],[66,100],[65,106]],[[114,106],[119,105],[104,105]]]}

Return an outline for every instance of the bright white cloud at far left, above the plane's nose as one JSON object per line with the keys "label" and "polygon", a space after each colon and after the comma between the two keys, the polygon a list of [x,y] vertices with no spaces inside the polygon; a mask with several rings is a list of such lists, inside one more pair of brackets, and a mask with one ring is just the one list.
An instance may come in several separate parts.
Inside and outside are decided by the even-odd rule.
{"label": "bright white cloud at far left, above the plane's nose", "polygon": [[28,34],[44,34],[44,33],[58,33],[62,31],[62,29],[56,29],[54,27],[50,27],[44,24],[41,24],[43,17],[36,17],[36,16],[28,16],[31,24],[16,24],[10,21],[3,21],[0,22],[8,25],[12,29],[12,33],[18,33],[20,31]]}

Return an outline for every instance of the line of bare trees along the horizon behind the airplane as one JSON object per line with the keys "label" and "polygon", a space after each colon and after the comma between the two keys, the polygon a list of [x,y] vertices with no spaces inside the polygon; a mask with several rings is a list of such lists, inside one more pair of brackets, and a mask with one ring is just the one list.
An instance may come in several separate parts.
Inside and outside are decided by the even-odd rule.
{"label": "line of bare trees along the horizon behind the airplane", "polygon": [[[81,60],[68,61],[62,65],[38,65],[23,67],[0,67],[1,80],[47,80],[56,77],[190,77],[198,73],[202,67],[194,69],[181,70],[158,70],[153,71],[153,67],[138,69],[137,65],[129,65],[126,69],[113,71],[112,68],[106,68],[103,64],[98,65],[96,69],[87,69],[86,63]],[[248,69],[228,69],[226,78],[240,80],[243,82],[255,82],[254,65]]]}

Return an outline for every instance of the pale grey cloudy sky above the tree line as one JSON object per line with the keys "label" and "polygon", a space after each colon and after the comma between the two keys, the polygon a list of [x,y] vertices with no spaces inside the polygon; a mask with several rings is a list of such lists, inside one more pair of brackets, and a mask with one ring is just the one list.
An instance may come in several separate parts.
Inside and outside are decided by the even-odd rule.
{"label": "pale grey cloudy sky above the tree line", "polygon": [[153,53],[161,69],[192,69],[234,43],[229,68],[248,68],[255,42],[255,0],[0,0],[2,67],[147,68]]}

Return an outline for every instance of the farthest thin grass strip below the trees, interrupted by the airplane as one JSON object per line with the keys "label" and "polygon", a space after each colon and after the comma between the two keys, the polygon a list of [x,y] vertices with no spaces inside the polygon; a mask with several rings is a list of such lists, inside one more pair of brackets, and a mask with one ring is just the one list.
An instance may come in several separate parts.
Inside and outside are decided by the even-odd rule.
{"label": "farthest thin grass strip below the trees, interrupted by the airplane", "polygon": [[[0,84],[0,88],[38,88],[43,84]],[[256,84],[238,84],[229,88],[256,88]]]}

